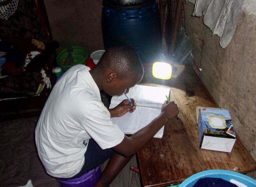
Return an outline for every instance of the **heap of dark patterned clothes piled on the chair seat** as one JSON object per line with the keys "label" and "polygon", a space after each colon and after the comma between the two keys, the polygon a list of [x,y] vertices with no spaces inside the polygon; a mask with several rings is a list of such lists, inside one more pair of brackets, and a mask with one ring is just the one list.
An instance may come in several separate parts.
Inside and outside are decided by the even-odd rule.
{"label": "heap of dark patterned clothes piled on the chair seat", "polygon": [[[52,69],[50,68],[52,68],[51,62],[54,57],[51,53],[48,54],[36,47],[38,46],[44,49],[45,46],[42,42],[34,39],[31,40],[32,39],[29,38],[16,37],[6,39],[6,41],[11,43],[0,41],[0,51],[6,51],[5,57],[7,59],[1,67],[1,73],[2,75],[8,75],[1,77],[0,74],[0,98],[14,98],[39,94],[38,87],[44,85],[51,89],[50,77]],[[52,48],[52,50],[55,50],[55,48]],[[46,66],[46,64],[50,67]],[[42,70],[42,68],[45,69],[46,72]],[[43,75],[41,70],[44,71]],[[40,91],[42,91],[42,89]]]}

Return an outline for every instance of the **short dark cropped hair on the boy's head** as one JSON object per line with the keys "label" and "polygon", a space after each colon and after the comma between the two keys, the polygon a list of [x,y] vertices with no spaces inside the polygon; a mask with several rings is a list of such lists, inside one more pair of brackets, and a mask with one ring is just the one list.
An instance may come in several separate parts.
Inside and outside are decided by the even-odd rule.
{"label": "short dark cropped hair on the boy's head", "polygon": [[110,68],[121,78],[131,75],[143,75],[143,66],[137,52],[130,46],[108,48],[103,54],[99,66]]}

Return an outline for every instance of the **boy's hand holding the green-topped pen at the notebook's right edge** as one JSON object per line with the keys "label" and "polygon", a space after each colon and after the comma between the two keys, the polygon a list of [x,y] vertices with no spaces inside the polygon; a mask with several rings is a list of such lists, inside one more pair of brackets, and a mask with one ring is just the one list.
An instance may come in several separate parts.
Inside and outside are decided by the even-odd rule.
{"label": "boy's hand holding the green-topped pen at the notebook's right edge", "polygon": [[167,121],[176,115],[178,115],[179,109],[177,107],[177,104],[174,103],[174,101],[168,101],[166,100],[162,106],[161,114],[164,118],[167,119]]}

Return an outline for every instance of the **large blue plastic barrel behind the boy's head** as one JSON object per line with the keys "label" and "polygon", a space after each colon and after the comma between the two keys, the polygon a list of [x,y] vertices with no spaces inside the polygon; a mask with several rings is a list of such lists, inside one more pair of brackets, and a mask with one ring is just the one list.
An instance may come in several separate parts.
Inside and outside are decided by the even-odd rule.
{"label": "large blue plastic barrel behind the boy's head", "polygon": [[128,45],[137,51],[142,63],[159,61],[162,44],[158,4],[122,11],[103,7],[102,35],[105,49]]}

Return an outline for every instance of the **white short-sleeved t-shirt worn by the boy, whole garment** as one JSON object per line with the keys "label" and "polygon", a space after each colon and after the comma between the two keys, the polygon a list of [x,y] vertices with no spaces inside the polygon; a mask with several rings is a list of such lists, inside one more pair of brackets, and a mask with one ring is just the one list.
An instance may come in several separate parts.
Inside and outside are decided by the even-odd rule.
{"label": "white short-sleeved t-shirt worn by the boy, whole garment", "polygon": [[84,164],[88,140],[102,149],[119,144],[124,133],[110,120],[90,68],[76,65],[56,83],[38,120],[35,139],[48,174],[69,178]]}

